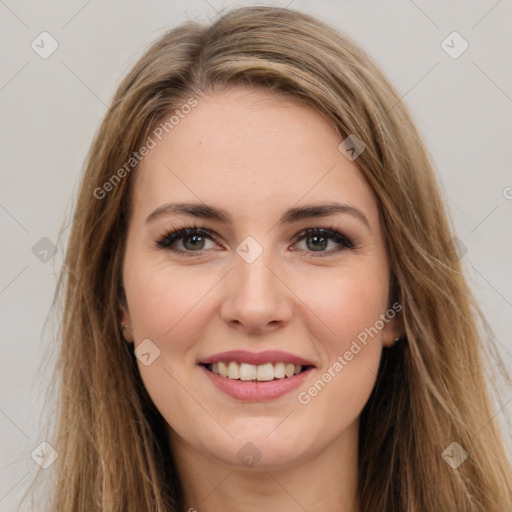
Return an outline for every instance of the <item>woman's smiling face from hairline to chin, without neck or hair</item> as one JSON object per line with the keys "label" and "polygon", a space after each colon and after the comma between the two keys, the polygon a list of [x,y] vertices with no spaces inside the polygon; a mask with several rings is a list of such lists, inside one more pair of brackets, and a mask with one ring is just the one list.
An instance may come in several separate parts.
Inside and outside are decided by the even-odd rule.
{"label": "woman's smiling face from hairline to chin, without neck or hair", "polygon": [[[173,448],[275,468],[353,442],[400,334],[375,196],[311,107],[234,89],[190,110],[142,161],[123,265],[125,338]],[[204,231],[167,236],[184,228]]]}

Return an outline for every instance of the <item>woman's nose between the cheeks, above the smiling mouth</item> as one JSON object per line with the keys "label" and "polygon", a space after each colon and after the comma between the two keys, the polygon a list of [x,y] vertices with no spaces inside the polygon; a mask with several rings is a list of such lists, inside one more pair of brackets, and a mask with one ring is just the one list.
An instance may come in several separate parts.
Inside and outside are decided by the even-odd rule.
{"label": "woman's nose between the cheeks, above the smiling mouth", "polygon": [[251,334],[272,332],[288,324],[293,293],[280,274],[270,251],[252,263],[235,255],[234,267],[226,276],[222,319]]}

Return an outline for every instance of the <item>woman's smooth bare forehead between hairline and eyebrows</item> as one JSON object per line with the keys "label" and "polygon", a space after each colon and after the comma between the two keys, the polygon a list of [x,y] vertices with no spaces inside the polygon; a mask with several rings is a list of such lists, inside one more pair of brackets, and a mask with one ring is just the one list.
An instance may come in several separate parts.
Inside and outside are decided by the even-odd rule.
{"label": "woman's smooth bare forehead between hairline and eyebrows", "polygon": [[[312,107],[259,90],[197,98],[144,158],[135,187],[141,215],[171,201],[204,201],[234,217],[278,216],[299,203],[345,202],[370,222],[375,197],[341,137]],[[373,219],[373,220],[372,220]]]}

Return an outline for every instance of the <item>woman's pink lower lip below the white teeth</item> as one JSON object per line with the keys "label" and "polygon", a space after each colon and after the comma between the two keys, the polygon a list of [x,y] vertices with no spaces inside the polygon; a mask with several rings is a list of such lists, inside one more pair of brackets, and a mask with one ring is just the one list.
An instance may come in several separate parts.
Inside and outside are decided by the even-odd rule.
{"label": "woman's pink lower lip below the white teeth", "polygon": [[221,377],[211,372],[206,367],[199,365],[211,382],[220,391],[227,395],[244,400],[246,402],[260,402],[263,400],[272,400],[286,395],[290,391],[298,388],[307,378],[313,368],[309,368],[293,377],[284,377],[283,379],[269,380],[265,382],[251,382],[244,380],[234,380],[228,377]]}

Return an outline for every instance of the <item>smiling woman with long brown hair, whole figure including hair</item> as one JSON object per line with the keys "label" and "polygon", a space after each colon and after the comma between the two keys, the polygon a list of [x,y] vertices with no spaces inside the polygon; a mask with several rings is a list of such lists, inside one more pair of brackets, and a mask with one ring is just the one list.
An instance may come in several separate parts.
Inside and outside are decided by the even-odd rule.
{"label": "smiling woman with long brown hair, whole figure including hair", "polygon": [[271,7],[166,33],[80,187],[50,509],[512,510],[452,239],[349,38]]}

